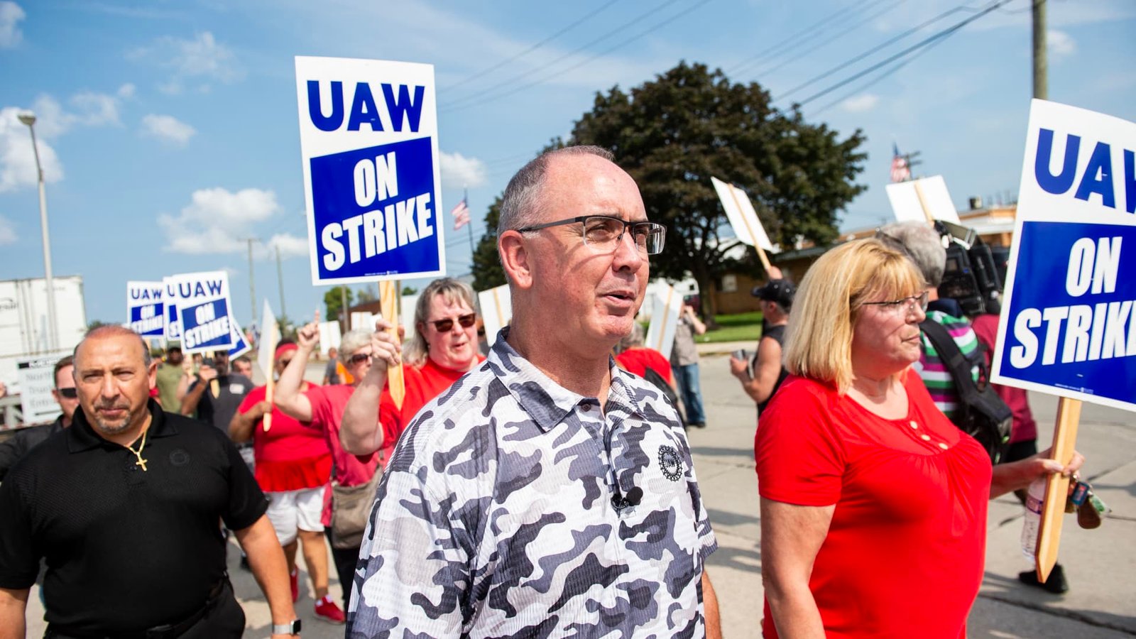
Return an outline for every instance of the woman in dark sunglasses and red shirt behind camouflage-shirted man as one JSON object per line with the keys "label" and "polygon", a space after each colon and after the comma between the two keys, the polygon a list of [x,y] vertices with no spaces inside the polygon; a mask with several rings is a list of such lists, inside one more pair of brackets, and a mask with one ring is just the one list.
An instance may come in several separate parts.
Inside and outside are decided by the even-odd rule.
{"label": "woman in dark sunglasses and red shirt behind camouflage-shirted man", "polygon": [[[379,321],[376,327],[389,326]],[[376,340],[375,350],[383,349]],[[386,371],[373,366],[343,413],[340,439],[357,455],[393,449],[410,420],[429,400],[485,359],[478,352],[474,292],[462,282],[431,282],[415,305],[415,332],[402,354],[406,397],[396,407],[384,389]],[[376,420],[377,415],[377,420]]]}

